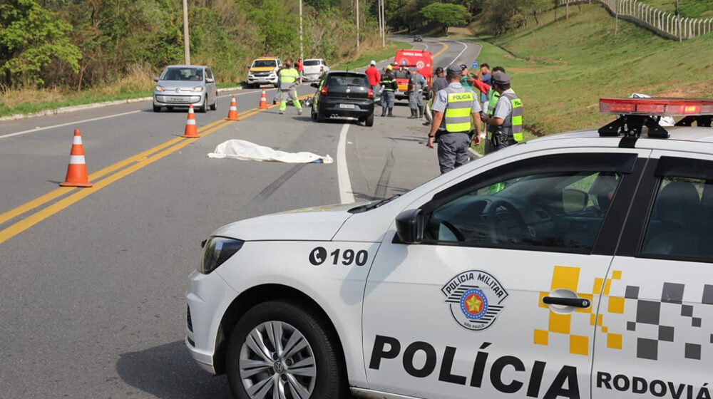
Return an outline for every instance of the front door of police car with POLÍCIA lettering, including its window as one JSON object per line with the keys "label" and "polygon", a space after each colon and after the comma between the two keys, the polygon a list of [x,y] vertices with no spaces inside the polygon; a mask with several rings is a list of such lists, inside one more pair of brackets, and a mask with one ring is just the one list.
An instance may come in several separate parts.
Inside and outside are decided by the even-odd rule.
{"label": "front door of police car with POL\u00cdCIA lettering, including its window", "polygon": [[610,237],[618,237],[643,162],[640,151],[612,151],[520,157],[402,212],[399,233],[423,231],[423,239],[404,244],[386,234],[371,266],[369,389],[433,399],[589,398]]}

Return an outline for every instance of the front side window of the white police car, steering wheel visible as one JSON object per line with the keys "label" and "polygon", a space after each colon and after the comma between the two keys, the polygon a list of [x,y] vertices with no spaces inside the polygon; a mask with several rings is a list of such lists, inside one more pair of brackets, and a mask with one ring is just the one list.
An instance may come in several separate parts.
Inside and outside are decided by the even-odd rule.
{"label": "front side window of the white police car, steering wheel visible", "polygon": [[424,242],[591,252],[617,172],[542,172],[472,187],[426,216]]}

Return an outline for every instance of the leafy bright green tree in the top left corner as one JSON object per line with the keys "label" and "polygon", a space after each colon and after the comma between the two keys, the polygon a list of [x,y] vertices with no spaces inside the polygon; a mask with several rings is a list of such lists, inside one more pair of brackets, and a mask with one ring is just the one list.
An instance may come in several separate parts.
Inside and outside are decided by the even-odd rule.
{"label": "leafy bright green tree in the top left corner", "polygon": [[81,52],[69,41],[72,27],[36,0],[0,4],[0,76],[7,86],[41,86],[46,68],[66,63],[75,73]]}

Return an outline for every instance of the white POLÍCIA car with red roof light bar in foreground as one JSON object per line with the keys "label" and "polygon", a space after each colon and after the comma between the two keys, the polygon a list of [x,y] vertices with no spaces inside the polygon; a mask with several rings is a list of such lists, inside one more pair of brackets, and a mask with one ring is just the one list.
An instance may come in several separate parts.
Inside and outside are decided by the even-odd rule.
{"label": "white POL\u00cdCIA car with red roof light bar in foreground", "polygon": [[713,101],[600,108],[395,199],[218,229],[193,358],[237,398],[711,398]]}

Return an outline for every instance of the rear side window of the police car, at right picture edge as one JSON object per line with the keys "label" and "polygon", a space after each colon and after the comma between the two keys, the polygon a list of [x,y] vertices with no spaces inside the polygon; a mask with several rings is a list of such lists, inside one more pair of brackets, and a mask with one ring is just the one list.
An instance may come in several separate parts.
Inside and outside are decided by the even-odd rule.
{"label": "rear side window of the police car, at right picture edge", "polygon": [[713,259],[713,181],[663,177],[642,247],[643,254]]}

